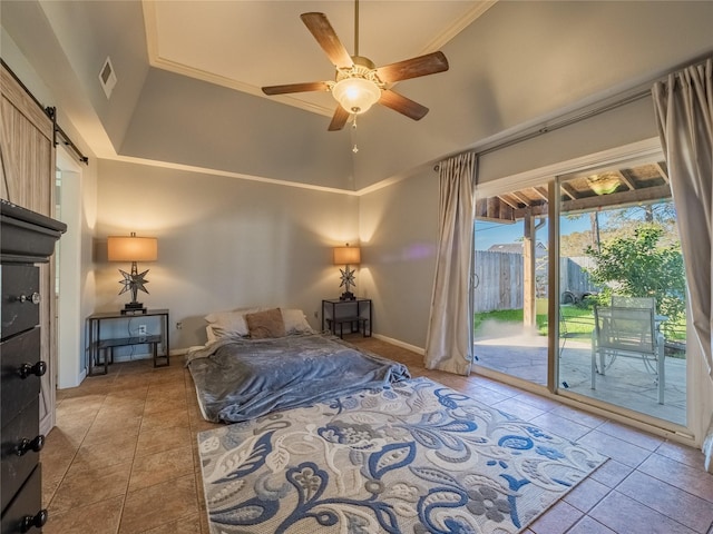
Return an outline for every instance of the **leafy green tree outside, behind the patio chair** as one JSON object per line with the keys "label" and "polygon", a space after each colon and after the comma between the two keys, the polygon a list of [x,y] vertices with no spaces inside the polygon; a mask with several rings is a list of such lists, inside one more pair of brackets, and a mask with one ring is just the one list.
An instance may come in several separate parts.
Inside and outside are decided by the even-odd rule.
{"label": "leafy green tree outside, behind the patio chair", "polygon": [[604,287],[602,299],[612,293],[629,297],[654,297],[656,313],[665,315],[670,324],[685,314],[685,273],[678,244],[660,244],[665,229],[658,224],[643,224],[633,236],[616,236],[588,247],[587,256],[595,259],[589,269],[595,284]]}

